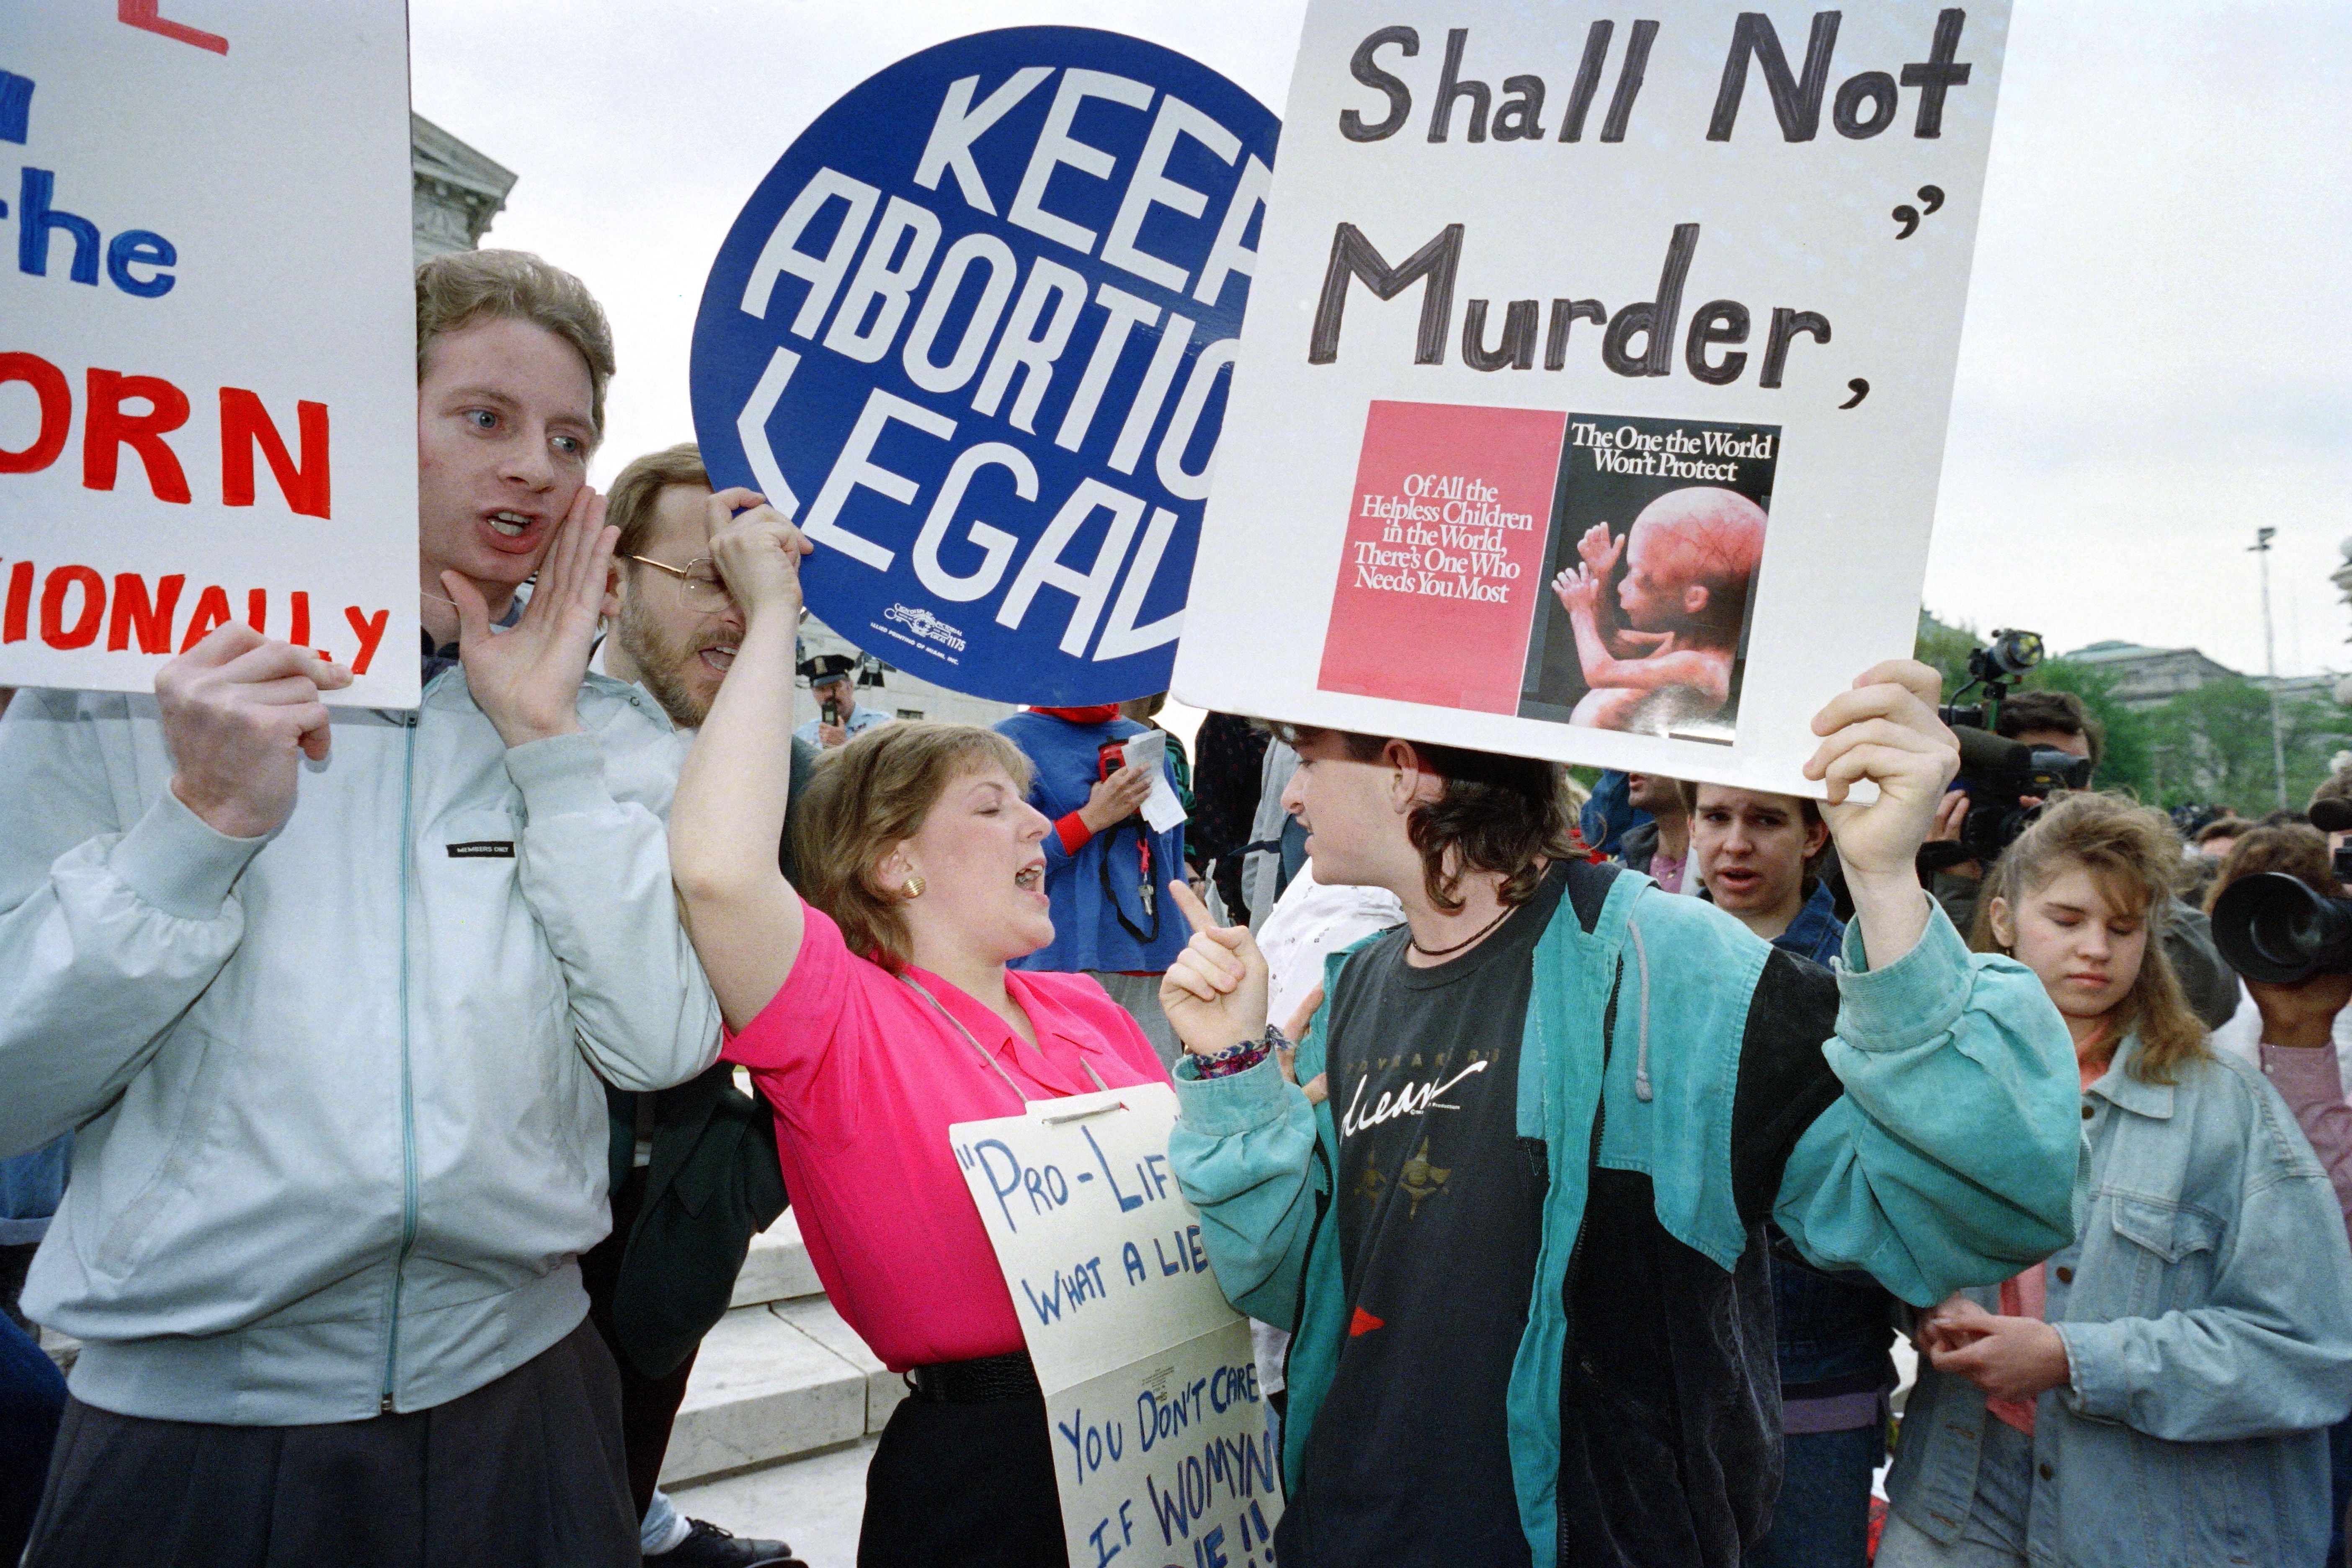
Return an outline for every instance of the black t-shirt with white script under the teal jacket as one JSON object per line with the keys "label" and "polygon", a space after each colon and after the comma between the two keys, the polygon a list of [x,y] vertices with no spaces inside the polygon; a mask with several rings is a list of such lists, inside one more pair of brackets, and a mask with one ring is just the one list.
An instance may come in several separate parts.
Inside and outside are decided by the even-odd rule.
{"label": "black t-shirt with white script under the teal jacket", "polygon": [[1364,947],[1331,997],[1348,1340],[1315,1418],[1284,1568],[1522,1568],[1505,1401],[1543,1227],[1543,1147],[1517,1135],[1534,950],[1566,870],[1484,943],[1406,966]]}

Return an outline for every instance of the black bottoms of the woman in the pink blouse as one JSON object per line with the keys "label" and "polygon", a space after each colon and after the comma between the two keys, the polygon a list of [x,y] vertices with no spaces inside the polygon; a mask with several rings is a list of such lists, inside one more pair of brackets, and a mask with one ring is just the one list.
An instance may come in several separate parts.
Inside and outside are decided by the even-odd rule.
{"label": "black bottoms of the woman in the pink blouse", "polygon": [[1044,1399],[903,1399],[866,1469],[858,1568],[1068,1568]]}

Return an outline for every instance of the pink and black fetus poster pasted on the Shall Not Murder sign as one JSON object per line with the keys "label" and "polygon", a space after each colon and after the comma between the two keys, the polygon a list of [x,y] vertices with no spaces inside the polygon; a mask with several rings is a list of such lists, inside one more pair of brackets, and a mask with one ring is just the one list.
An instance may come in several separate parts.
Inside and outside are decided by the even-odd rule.
{"label": "pink and black fetus poster pasted on the Shall Not Murder sign", "polygon": [[1778,447],[1773,425],[1374,402],[1322,689],[1729,743]]}

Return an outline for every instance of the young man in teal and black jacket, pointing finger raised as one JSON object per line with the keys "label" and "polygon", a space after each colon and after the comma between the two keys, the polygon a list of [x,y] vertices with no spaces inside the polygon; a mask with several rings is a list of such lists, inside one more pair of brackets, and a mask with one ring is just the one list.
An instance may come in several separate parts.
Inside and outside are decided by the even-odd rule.
{"label": "young man in teal and black jacket, pointing finger raised", "polygon": [[1813,719],[1837,971],[1583,860],[1550,764],[1296,731],[1317,877],[1406,912],[1331,959],[1327,1098],[1183,893],[1162,990],[1178,1180],[1232,1302],[1296,1328],[1284,1568],[1729,1568],[1780,1474],[1766,1220],[1917,1305],[2072,1239],[2065,1025],[1912,872],[1959,759],[1936,686],[1886,663]]}

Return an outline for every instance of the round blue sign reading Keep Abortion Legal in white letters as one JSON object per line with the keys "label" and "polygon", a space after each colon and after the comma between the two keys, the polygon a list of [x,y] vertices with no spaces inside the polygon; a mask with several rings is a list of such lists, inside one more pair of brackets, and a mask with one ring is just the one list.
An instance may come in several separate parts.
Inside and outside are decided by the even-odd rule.
{"label": "round blue sign reading Keep Abortion Legal in white letters", "polygon": [[1157,45],[974,33],[786,150],[694,324],[694,428],[809,607],[1009,703],[1164,691],[1275,118]]}

